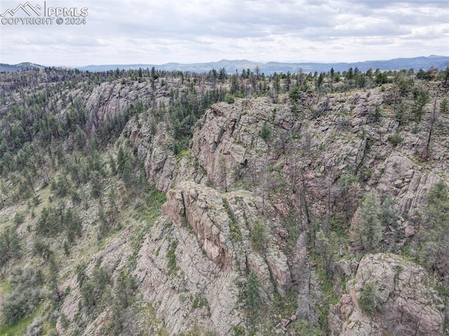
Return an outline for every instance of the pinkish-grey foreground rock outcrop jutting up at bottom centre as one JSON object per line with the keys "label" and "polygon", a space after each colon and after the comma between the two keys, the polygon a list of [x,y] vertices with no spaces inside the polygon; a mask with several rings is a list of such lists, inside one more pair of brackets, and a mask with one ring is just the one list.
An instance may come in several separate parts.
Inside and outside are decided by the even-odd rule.
{"label": "pinkish-grey foreground rock outcrop jutting up at bottom centre", "polygon": [[[290,289],[288,260],[274,241],[263,251],[252,246],[250,229],[260,211],[255,203],[247,191],[220,193],[189,181],[168,191],[166,216],[145,238],[136,275],[145,300],[157,303],[156,316],[170,333],[196,323],[229,335],[244,318],[237,283],[249,269],[260,278],[267,303],[274,290],[285,295]],[[201,307],[194,304],[198,297]]]}

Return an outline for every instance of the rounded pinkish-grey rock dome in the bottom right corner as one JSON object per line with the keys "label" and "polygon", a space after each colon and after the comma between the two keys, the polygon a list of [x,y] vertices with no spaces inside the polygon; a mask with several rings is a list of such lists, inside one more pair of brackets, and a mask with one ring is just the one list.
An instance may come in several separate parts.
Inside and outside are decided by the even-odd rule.
{"label": "rounded pinkish-grey rock dome in the bottom right corner", "polygon": [[[358,300],[366,283],[376,289],[375,313]],[[444,305],[427,272],[396,255],[366,255],[340,302],[330,309],[332,335],[443,335]]]}

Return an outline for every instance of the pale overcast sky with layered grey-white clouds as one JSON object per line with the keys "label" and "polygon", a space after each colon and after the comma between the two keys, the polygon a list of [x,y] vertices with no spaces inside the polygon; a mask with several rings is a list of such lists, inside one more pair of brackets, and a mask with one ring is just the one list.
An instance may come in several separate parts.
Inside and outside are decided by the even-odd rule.
{"label": "pale overcast sky with layered grey-white clouds", "polygon": [[[28,1],[43,8],[36,9],[39,16],[22,8],[8,12],[26,0],[0,1],[0,63],[362,62],[449,55],[448,0]],[[72,12],[48,13],[55,8]],[[86,16],[75,16],[81,13]],[[20,22],[44,15],[53,22]],[[81,24],[65,24],[72,19]]]}

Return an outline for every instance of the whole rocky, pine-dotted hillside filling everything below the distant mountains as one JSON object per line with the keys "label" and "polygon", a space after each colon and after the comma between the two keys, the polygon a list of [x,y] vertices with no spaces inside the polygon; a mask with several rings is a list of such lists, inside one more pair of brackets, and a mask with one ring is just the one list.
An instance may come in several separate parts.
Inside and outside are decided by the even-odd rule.
{"label": "whole rocky, pine-dotted hillside filling everything below the distant mountains", "polygon": [[449,68],[0,83],[0,335],[448,335]]}

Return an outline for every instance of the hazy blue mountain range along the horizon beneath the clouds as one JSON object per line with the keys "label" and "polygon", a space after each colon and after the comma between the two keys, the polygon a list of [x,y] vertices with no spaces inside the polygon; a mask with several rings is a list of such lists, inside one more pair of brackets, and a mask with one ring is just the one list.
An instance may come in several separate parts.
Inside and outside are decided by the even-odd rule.
{"label": "hazy blue mountain range along the horizon beneath the clouds", "polygon": [[[319,63],[319,62],[252,62],[250,60],[220,60],[218,62],[206,62],[206,63],[166,63],[163,65],[151,65],[151,64],[133,64],[133,65],[88,65],[86,67],[78,67],[77,69],[89,72],[102,72],[115,69],[151,69],[155,67],[159,70],[173,71],[180,70],[182,72],[209,72],[212,69],[225,68],[226,72],[234,73],[236,70],[241,72],[242,69],[250,69],[255,71],[256,67],[259,67],[260,73],[273,74],[274,72],[299,72],[302,69],[303,72],[328,72],[333,68],[336,72],[343,72],[349,69],[349,67],[358,67],[363,72],[372,68],[380,70],[395,70],[395,69],[429,69],[431,66],[437,69],[445,69],[449,67],[448,56],[436,56],[431,55],[429,57],[417,57],[417,58],[394,58],[393,60],[370,60],[366,62],[354,62],[354,63]],[[23,69],[41,69],[43,66],[35,65],[33,63],[20,63],[18,65],[6,65],[0,64],[0,72],[18,72]]]}

